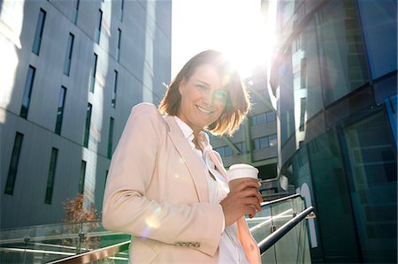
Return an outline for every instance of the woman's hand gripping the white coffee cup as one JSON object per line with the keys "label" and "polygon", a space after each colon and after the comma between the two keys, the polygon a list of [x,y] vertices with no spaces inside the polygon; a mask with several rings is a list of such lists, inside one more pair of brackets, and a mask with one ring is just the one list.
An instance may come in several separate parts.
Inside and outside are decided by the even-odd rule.
{"label": "woman's hand gripping the white coffee cup", "polygon": [[259,186],[256,180],[244,180],[219,203],[223,207],[226,226],[235,223],[243,215],[249,214],[252,218],[256,211],[261,211],[263,198],[257,191]]}

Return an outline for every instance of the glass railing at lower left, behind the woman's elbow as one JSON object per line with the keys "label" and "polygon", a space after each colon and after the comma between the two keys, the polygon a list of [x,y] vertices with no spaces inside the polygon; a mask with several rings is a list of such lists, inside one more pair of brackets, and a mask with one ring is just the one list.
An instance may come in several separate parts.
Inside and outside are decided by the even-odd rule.
{"label": "glass railing at lower left, behind the woman's elbow", "polygon": [[98,222],[31,226],[1,230],[0,235],[0,263],[45,263],[130,238]]}

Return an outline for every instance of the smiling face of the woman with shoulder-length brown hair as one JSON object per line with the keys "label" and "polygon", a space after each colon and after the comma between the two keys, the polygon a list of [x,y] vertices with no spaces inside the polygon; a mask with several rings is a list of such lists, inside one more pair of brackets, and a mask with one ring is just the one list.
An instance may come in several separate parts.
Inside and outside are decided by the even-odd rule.
{"label": "smiling face of the woman with shoulder-length brown hair", "polygon": [[203,64],[194,74],[180,83],[181,105],[178,117],[195,134],[214,123],[226,108],[226,88],[221,76],[211,64]]}

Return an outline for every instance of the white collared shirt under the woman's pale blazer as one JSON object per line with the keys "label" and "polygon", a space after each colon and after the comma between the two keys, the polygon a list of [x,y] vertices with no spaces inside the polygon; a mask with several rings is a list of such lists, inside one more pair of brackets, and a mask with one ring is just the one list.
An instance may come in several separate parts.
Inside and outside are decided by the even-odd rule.
{"label": "white collared shirt under the woman's pale blazer", "polygon": [[[226,195],[229,192],[229,187],[226,182],[226,178],[223,177],[218,170],[216,170],[214,163],[210,159],[209,153],[212,151],[212,147],[209,143],[209,136],[206,133],[203,133],[206,139],[200,142],[200,145],[203,146],[201,151],[195,147],[193,142],[195,136],[189,125],[185,124],[179,117],[175,117],[175,120],[185,138],[188,140],[189,145],[195,151],[196,155],[198,155],[203,161],[203,169],[209,170],[210,173],[216,178],[216,180],[214,180],[212,177],[210,177],[210,175],[207,177],[207,184],[209,186],[209,201],[211,203],[219,203],[221,200],[226,198]],[[223,224],[224,231],[221,234],[221,239],[219,242],[218,263],[249,263],[248,260],[246,260],[243,249],[241,248],[241,243],[238,240],[237,223],[233,223],[232,225],[226,227],[223,218]]]}

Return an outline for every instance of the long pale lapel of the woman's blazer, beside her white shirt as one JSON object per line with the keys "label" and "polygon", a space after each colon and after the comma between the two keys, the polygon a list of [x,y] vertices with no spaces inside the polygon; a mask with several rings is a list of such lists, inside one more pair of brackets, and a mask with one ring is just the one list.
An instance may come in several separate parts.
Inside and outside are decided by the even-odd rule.
{"label": "long pale lapel of the woman's blazer, beside her white shirt", "polygon": [[182,161],[187,165],[196,188],[196,194],[199,201],[209,201],[209,190],[206,180],[206,171],[203,170],[203,162],[200,157],[195,154],[184,134],[181,132],[179,125],[172,116],[165,116],[165,121],[169,124],[169,137],[172,143],[180,153]]}

